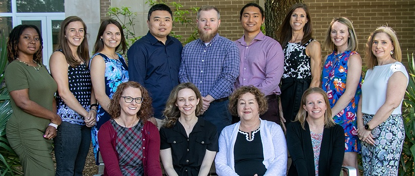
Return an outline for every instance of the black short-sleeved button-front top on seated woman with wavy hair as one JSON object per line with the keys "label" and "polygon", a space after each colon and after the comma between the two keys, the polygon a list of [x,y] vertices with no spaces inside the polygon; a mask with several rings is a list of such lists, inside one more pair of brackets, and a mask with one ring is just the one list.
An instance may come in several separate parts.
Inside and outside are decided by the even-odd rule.
{"label": "black short-sleeved button-front top on seated woman with wavy hair", "polygon": [[179,175],[198,175],[206,150],[219,151],[216,126],[198,118],[187,137],[183,125],[160,129],[160,149],[172,148],[173,166]]}

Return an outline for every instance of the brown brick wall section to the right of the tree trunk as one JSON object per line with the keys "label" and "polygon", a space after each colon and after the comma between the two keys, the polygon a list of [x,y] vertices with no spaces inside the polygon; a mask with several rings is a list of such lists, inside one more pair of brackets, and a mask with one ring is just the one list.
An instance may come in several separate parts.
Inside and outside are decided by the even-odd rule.
{"label": "brown brick wall section to the right of the tree trunk", "polygon": [[[415,1],[413,0],[304,0],[313,21],[313,37],[323,42],[325,31],[334,17],[348,17],[359,39],[358,52],[364,57],[368,36],[377,27],[392,27],[402,49],[403,62],[406,50],[415,52]],[[323,51],[322,55],[327,55]]]}

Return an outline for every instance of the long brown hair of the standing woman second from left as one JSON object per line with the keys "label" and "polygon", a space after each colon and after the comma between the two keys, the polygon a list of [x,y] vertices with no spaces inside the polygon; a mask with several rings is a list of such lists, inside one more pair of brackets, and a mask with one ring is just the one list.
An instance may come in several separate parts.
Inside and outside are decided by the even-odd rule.
{"label": "long brown hair of the standing woman second from left", "polygon": [[66,39],[66,30],[70,23],[72,22],[80,22],[82,23],[82,26],[84,28],[84,39],[82,40],[82,43],[77,47],[76,53],[78,54],[79,58],[84,61],[86,64],[89,64],[90,59],[90,51],[88,48],[88,33],[87,33],[87,25],[85,25],[84,21],[82,21],[81,18],[76,16],[70,16],[65,18],[65,20],[62,21],[60,24],[60,30],[58,34],[58,46],[56,49],[62,49],[63,55],[65,55],[66,62],[73,68],[78,66],[81,61],[76,60],[75,56],[72,54],[72,50],[69,47],[68,41]]}

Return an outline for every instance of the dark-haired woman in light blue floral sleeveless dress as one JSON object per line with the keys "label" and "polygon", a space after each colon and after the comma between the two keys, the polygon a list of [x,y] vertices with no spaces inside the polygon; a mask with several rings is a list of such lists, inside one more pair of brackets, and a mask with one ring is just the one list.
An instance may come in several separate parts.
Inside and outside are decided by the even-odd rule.
{"label": "dark-haired woman in light blue floral sleeveless dress", "polygon": [[102,124],[111,119],[108,105],[117,86],[129,79],[127,64],[123,56],[126,50],[124,33],[120,23],[115,20],[105,20],[101,23],[95,42],[94,56],[91,59],[91,80],[95,97],[99,103],[97,124],[92,128],[92,144],[95,159],[98,164],[99,144],[98,131]]}

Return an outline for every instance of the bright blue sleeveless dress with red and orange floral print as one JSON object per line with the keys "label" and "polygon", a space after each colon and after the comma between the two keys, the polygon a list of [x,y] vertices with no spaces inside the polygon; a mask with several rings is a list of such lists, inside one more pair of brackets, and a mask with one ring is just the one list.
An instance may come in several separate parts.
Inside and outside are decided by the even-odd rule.
{"label": "bright blue sleeveless dress with red and orange floral print", "polygon": [[[346,91],[346,80],[348,70],[348,60],[356,51],[345,51],[337,54],[333,51],[327,56],[322,72],[322,89],[327,93],[330,107],[333,108],[339,98]],[[360,76],[355,97],[349,105],[339,114],[333,117],[333,120],[341,125],[345,130],[345,152],[360,152],[361,145],[357,136],[356,112],[360,95],[362,94],[362,76]]]}

